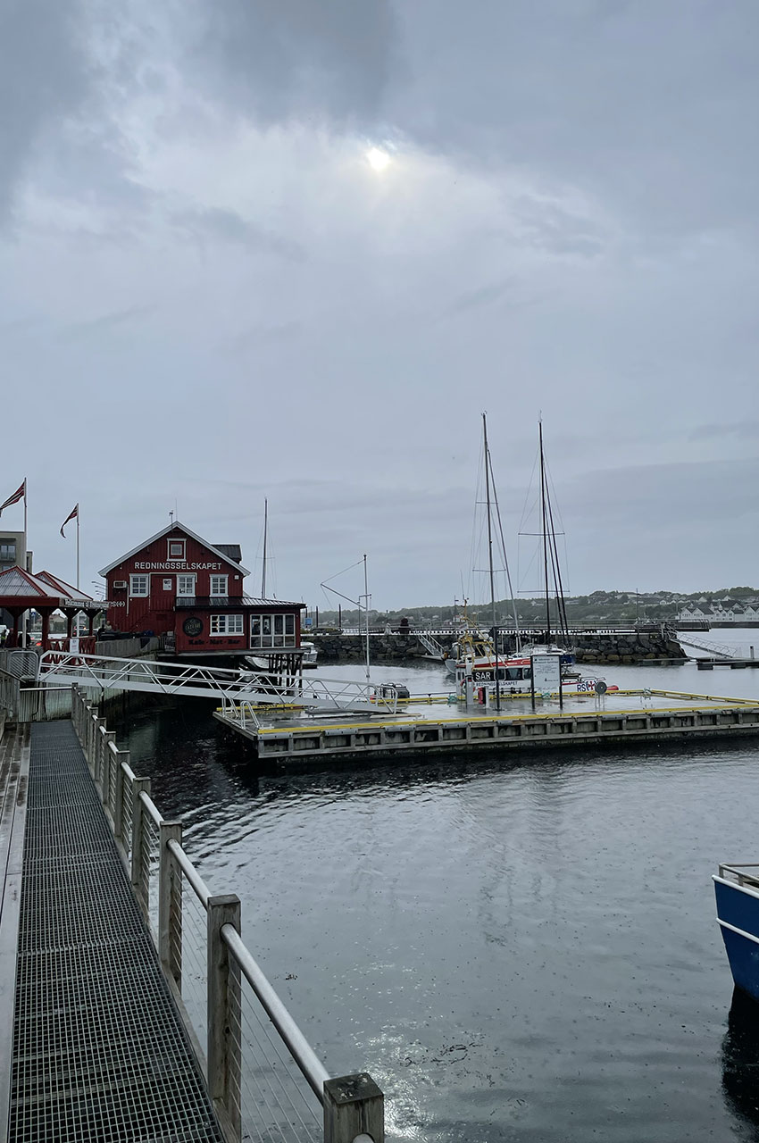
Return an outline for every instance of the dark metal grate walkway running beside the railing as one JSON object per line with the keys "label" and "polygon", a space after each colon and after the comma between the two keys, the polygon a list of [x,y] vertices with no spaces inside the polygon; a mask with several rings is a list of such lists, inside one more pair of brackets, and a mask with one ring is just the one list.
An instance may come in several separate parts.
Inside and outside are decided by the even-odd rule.
{"label": "dark metal grate walkway running beside the railing", "polygon": [[32,727],[10,1096],[10,1143],[222,1141],[70,722]]}

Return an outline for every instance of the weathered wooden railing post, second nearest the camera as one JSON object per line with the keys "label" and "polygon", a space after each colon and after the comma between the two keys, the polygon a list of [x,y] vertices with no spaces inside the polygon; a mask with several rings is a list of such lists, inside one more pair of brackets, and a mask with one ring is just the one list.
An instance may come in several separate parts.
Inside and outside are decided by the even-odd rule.
{"label": "weathered wooden railing post, second nearest the camera", "polygon": [[208,1094],[226,1143],[239,1143],[241,1006],[240,966],[222,940],[222,928],[240,932],[240,898],[208,898]]}

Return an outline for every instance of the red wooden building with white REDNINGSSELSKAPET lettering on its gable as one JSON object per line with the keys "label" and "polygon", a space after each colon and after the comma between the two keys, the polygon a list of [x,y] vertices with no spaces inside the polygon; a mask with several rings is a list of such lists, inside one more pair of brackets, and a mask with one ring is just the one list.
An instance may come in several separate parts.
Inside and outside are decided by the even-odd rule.
{"label": "red wooden building with white REDNINGSSELSKAPET lettering on its gable", "polygon": [[299,658],[305,604],[246,596],[250,573],[241,558],[237,544],[209,544],[183,523],[170,523],[101,572],[111,626],[167,636],[167,645],[187,658]]}

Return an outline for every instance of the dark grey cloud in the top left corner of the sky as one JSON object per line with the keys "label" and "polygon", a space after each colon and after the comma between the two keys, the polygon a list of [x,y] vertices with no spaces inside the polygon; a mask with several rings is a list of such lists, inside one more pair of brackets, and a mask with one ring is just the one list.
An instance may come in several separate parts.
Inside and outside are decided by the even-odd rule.
{"label": "dark grey cloud in the top left corner of the sky", "polygon": [[0,218],[48,129],[88,91],[79,0],[5,0],[0,17]]}

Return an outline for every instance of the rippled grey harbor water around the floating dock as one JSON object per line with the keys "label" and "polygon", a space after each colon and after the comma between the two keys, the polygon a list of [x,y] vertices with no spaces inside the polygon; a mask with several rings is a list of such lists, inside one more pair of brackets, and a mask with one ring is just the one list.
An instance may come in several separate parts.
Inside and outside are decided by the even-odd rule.
{"label": "rippled grey harbor water around the floating dock", "polygon": [[[759,670],[601,673],[759,702]],[[711,884],[759,861],[759,740],[257,780],[206,703],[117,729],[328,1069],[385,1090],[389,1140],[759,1140],[759,1016],[730,1008]]]}

